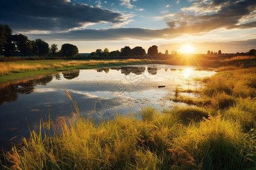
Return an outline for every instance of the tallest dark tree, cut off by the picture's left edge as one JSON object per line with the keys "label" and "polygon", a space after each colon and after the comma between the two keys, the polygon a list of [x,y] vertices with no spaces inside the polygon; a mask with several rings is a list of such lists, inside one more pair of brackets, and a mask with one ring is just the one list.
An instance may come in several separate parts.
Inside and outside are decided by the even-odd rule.
{"label": "tallest dark tree, cut off by the picture's left edge", "polygon": [[13,30],[11,30],[9,25],[0,24],[0,51],[3,51],[6,57],[12,56],[15,51],[15,45],[12,42],[12,33]]}

